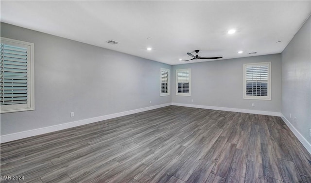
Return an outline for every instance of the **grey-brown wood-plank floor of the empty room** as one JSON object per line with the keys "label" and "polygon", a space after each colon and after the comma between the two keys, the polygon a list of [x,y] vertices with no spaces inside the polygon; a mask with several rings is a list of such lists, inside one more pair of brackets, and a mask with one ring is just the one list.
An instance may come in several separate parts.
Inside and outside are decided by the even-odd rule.
{"label": "grey-brown wood-plank floor of the empty room", "polygon": [[1,179],[311,183],[310,161],[280,117],[168,106],[1,144]]}

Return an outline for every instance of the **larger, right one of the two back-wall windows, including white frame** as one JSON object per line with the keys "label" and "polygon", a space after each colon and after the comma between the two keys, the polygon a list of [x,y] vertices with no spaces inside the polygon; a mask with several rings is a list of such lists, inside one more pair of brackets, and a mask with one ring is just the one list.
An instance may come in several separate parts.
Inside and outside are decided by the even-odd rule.
{"label": "larger, right one of the two back-wall windows, including white frame", "polygon": [[244,64],[243,98],[271,100],[271,62]]}

